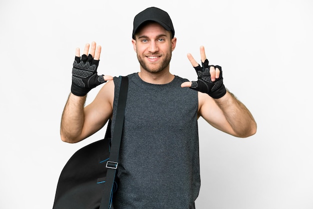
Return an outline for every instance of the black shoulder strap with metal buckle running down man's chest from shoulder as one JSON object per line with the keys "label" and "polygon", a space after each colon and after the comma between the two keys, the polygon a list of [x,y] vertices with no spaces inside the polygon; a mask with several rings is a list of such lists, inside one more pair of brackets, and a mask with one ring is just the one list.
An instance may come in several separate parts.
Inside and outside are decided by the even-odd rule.
{"label": "black shoulder strap with metal buckle running down man's chest from shoulder", "polygon": [[118,165],[118,153],[121,141],[122,129],[124,124],[124,113],[128,91],[128,77],[120,76],[120,88],[117,100],[117,111],[115,116],[114,131],[111,139],[111,148],[109,159],[106,162],[106,181],[102,193],[99,209],[107,209],[112,204],[112,190],[115,178],[115,172]]}

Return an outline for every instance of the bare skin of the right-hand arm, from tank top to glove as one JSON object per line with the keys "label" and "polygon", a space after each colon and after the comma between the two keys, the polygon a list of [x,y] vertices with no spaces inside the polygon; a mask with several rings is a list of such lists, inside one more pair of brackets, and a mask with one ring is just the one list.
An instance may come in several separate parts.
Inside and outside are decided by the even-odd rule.
{"label": "bare skin of the right-hand arm, from tank top to glove", "polygon": [[233,136],[248,137],[256,132],[252,114],[229,91],[217,99],[199,92],[198,113],[215,128]]}

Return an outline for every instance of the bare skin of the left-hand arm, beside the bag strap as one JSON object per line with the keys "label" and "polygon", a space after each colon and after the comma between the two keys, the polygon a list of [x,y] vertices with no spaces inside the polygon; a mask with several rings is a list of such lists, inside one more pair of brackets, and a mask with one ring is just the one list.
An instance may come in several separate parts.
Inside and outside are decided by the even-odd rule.
{"label": "bare skin of the left-hand arm, beside the bag strap", "polygon": [[78,142],[103,127],[112,114],[113,81],[107,82],[94,100],[84,107],[85,99],[86,96],[75,96],[72,93],[68,97],[60,127],[60,136],[65,142]]}

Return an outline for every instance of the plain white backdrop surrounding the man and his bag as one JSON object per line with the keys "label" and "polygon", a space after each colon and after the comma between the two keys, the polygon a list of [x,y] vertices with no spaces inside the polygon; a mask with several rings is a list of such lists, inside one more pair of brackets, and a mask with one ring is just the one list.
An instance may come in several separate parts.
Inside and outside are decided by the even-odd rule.
{"label": "plain white backdrop surrounding the man and his bag", "polygon": [[186,54],[199,60],[204,45],[258,125],[241,139],[199,119],[196,207],[313,208],[310,0],[1,0],[0,208],[52,207],[67,159],[105,131],[76,144],[60,140],[75,48],[102,46],[99,73],[138,71],[132,20],[149,6],[172,18],[171,72],[194,80]]}

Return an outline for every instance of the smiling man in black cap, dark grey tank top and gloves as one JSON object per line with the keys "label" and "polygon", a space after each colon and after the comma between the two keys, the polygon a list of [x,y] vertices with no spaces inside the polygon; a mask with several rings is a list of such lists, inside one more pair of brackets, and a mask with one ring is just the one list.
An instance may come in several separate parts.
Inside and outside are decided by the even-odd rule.
{"label": "smiling man in black cap, dark grey tank top and gloves", "polygon": [[[237,137],[254,134],[256,123],[224,87],[221,67],[208,65],[203,46],[202,66],[187,54],[197,81],[169,72],[176,38],[167,12],[156,7],[139,12],[132,38],[140,71],[128,75],[114,208],[194,208],[200,187],[197,118]],[[61,139],[70,143],[90,136],[109,117],[114,124],[119,79],[96,74],[101,47],[95,42],[89,47],[85,45],[81,59],[76,49],[71,93],[61,119]],[[87,92],[107,80],[113,81],[84,107]]]}

